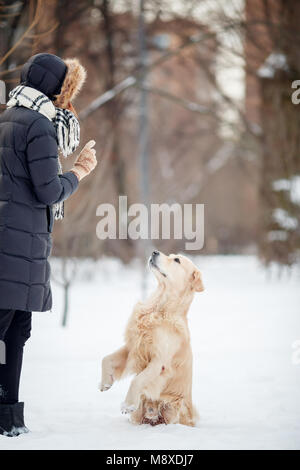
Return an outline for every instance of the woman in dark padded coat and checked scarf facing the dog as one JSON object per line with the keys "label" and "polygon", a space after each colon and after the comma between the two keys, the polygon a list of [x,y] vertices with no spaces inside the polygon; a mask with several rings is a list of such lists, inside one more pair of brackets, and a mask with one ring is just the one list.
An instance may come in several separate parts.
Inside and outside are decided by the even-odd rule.
{"label": "woman in dark padded coat and checked scarf facing the dog", "polygon": [[[62,174],[58,148],[79,144],[72,100],[85,80],[76,59],[37,54],[23,66],[20,85],[0,115],[0,434],[28,432],[19,402],[23,348],[31,312],[52,307],[51,232],[63,218],[63,201],[96,166],[90,141],[71,171]],[[2,348],[3,349],[3,348]]]}

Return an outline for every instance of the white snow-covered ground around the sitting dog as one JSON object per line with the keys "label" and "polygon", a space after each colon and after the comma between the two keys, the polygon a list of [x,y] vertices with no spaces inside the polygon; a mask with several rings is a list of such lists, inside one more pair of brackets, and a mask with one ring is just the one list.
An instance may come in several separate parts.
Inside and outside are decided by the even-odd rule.
{"label": "white snow-covered ground around the sitting dog", "polygon": [[53,312],[34,314],[21,389],[32,432],[0,436],[0,449],[300,449],[292,348],[300,340],[299,272],[268,277],[253,257],[197,263],[206,286],[189,314],[199,427],[136,427],[120,413],[128,380],[97,390],[101,358],[122,344],[141,284],[136,264],[106,260],[74,284],[66,329],[55,285]]}

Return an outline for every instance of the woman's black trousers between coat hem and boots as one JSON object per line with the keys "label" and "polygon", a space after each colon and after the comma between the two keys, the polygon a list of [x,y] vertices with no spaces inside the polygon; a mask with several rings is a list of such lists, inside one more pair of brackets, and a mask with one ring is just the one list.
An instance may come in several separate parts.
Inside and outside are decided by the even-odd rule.
{"label": "woman's black trousers between coat hem and boots", "polygon": [[19,401],[23,349],[30,331],[31,312],[0,310],[0,405]]}

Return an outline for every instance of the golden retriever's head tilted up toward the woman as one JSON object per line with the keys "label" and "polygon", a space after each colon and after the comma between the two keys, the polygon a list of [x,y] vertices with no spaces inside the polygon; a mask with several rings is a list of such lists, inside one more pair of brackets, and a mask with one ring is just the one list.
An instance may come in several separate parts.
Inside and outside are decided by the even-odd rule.
{"label": "golden retriever's head tilted up toward the woman", "polygon": [[177,293],[202,292],[204,290],[199,269],[183,255],[166,256],[160,251],[153,251],[149,266],[159,284],[163,284]]}

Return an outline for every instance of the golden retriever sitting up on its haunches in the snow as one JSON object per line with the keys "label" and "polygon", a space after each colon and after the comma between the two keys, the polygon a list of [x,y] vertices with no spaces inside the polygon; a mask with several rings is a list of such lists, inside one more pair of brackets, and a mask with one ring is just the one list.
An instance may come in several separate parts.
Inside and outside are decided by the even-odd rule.
{"label": "golden retriever sitting up on its haunches in the snow", "polygon": [[194,426],[192,349],[187,313],[195,292],[204,290],[197,267],[182,255],[154,251],[149,266],[158,285],[129,319],[125,345],[102,361],[101,391],[135,374],[122,413],[136,424]]}

